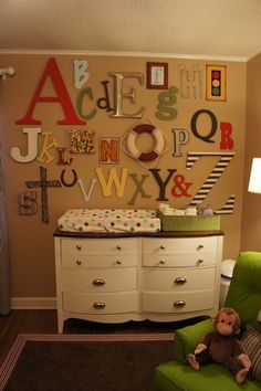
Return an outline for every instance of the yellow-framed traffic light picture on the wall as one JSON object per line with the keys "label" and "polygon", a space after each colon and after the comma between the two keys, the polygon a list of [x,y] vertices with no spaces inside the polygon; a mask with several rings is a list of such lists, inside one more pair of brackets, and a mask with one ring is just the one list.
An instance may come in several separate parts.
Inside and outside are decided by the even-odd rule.
{"label": "yellow-framed traffic light picture on the wall", "polygon": [[227,101],[227,66],[206,65],[206,99]]}

